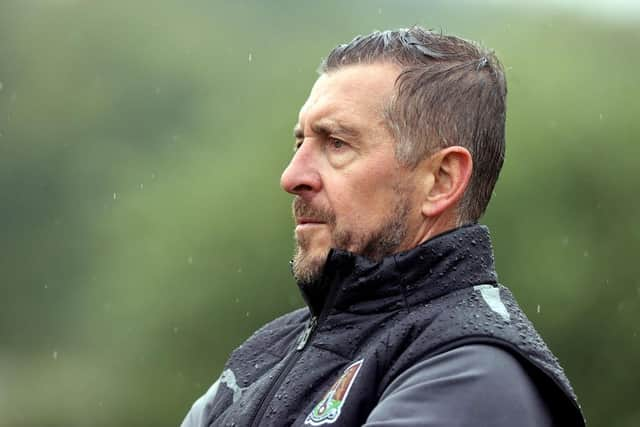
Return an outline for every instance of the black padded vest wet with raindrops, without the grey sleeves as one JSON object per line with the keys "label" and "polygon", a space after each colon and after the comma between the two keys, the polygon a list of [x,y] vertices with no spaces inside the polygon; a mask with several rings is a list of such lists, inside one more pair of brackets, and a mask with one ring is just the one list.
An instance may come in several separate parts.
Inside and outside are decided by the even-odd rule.
{"label": "black padded vest wet with raindrops, without the grey sleeves", "polygon": [[584,426],[557,359],[497,284],[486,227],[453,230],[379,263],[332,250],[322,280],[301,291],[308,308],[233,352],[205,425],[362,425],[407,369],[490,344],[523,364],[557,425]]}

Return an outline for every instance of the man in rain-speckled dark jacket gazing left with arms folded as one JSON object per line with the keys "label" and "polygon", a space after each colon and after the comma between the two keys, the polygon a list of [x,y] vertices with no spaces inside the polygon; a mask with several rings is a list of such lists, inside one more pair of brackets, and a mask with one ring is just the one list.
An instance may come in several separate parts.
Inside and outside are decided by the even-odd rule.
{"label": "man in rain-speckled dark jacket gazing left with arms folded", "polygon": [[336,47],[281,178],[306,308],[236,349],[183,426],[583,426],[477,225],[504,158],[495,56],[418,27]]}

